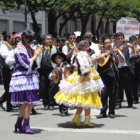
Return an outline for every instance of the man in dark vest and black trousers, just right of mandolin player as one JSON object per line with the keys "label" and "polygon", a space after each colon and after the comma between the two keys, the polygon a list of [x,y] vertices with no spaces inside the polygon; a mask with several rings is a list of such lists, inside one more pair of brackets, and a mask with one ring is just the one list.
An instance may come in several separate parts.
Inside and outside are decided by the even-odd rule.
{"label": "man in dark vest and black trousers, just right of mandolin player", "polygon": [[121,108],[123,101],[123,94],[125,90],[128,107],[133,107],[132,85],[131,85],[131,71],[130,71],[130,53],[129,45],[125,42],[125,37],[122,32],[116,34],[116,46],[125,57],[125,62],[119,65],[119,84],[118,84],[118,102],[116,108]]}

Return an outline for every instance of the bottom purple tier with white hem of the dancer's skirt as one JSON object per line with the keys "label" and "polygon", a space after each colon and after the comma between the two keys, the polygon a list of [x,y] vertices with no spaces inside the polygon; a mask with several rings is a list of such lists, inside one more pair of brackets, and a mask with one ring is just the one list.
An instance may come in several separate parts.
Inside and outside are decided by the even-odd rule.
{"label": "bottom purple tier with white hem of the dancer's skirt", "polygon": [[11,93],[11,104],[36,104],[39,102],[37,90],[19,91]]}

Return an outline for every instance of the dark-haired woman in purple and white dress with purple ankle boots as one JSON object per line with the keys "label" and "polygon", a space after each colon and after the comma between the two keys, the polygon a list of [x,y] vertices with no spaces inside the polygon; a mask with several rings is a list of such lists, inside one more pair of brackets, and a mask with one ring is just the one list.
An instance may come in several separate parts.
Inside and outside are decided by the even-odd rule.
{"label": "dark-haired woman in purple and white dress with purple ankle boots", "polygon": [[39,81],[35,71],[35,60],[42,52],[42,48],[38,48],[33,53],[30,48],[32,40],[33,35],[29,31],[22,34],[22,43],[17,46],[14,52],[16,68],[10,82],[11,103],[21,104],[15,132],[19,129],[19,132],[27,134],[33,134],[29,126],[29,117],[33,105],[39,102],[37,95]]}

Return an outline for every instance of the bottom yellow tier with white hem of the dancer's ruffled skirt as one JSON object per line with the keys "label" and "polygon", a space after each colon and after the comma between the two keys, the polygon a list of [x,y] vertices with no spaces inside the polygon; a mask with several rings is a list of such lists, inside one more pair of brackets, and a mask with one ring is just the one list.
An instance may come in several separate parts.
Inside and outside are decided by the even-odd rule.
{"label": "bottom yellow tier with white hem of the dancer's ruffled skirt", "polygon": [[70,107],[102,108],[102,103],[97,91],[85,94],[62,94],[59,91],[54,98],[58,104],[64,104]]}

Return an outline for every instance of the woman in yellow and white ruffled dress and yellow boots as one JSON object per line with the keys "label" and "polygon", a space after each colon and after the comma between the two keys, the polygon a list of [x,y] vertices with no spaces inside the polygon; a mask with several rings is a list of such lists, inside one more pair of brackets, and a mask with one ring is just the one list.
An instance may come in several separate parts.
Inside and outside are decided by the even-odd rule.
{"label": "woman in yellow and white ruffled dress and yellow boots", "polygon": [[72,124],[81,126],[80,116],[84,110],[85,120],[82,126],[95,127],[95,124],[90,122],[90,111],[91,108],[102,107],[98,91],[103,88],[103,83],[96,70],[91,70],[91,59],[86,51],[86,42],[79,42],[79,52],[72,60],[73,72],[60,81],[60,91],[55,95],[55,99],[59,104],[77,107]]}

